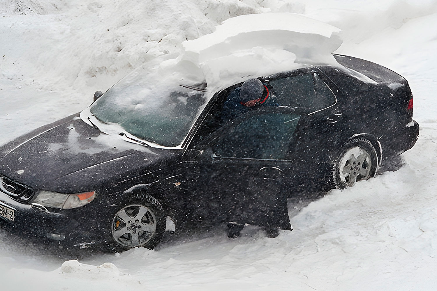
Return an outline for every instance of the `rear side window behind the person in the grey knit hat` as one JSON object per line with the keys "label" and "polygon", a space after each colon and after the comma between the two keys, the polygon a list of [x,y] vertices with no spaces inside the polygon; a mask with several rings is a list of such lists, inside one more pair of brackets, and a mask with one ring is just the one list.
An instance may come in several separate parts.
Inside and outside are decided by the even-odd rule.
{"label": "rear side window behind the person in the grey knit hat", "polygon": [[305,113],[322,110],[336,102],[329,87],[314,72],[273,79],[270,85],[279,105]]}

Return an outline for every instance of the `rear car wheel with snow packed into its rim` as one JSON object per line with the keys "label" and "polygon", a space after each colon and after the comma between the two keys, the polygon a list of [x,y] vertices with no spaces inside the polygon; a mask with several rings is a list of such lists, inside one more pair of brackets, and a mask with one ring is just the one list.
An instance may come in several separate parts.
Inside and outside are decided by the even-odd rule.
{"label": "rear car wheel with snow packed into its rim", "polygon": [[349,140],[337,155],[333,167],[334,185],[338,189],[375,177],[378,155],[369,140],[356,137]]}

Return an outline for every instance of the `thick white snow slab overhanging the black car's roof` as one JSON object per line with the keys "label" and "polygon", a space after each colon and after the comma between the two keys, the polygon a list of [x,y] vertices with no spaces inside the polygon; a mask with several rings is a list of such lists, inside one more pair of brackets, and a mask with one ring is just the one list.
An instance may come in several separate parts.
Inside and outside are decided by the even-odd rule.
{"label": "thick white snow slab overhanging the black car's roof", "polygon": [[[216,31],[184,41],[182,58],[198,63],[208,87],[237,82],[305,65],[338,65],[340,29],[294,13],[264,13],[229,18]],[[243,81],[243,80],[241,80]]]}

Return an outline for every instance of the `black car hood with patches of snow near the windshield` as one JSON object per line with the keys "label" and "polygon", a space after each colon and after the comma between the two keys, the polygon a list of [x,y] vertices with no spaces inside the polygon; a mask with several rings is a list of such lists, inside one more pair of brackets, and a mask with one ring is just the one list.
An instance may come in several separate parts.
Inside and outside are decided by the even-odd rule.
{"label": "black car hood with patches of snow near the windshield", "polygon": [[86,192],[106,181],[153,171],[174,153],[103,134],[77,115],[23,139],[0,149],[0,173],[33,188],[62,193]]}

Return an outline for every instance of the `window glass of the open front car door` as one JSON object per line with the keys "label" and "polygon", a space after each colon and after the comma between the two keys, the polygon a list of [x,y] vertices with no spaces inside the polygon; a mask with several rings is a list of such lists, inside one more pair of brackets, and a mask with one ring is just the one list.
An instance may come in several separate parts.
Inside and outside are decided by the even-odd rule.
{"label": "window glass of the open front car door", "polygon": [[218,157],[285,160],[299,121],[290,113],[262,113],[239,120],[212,145]]}

